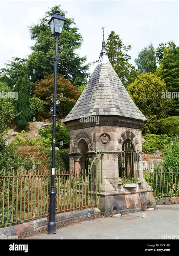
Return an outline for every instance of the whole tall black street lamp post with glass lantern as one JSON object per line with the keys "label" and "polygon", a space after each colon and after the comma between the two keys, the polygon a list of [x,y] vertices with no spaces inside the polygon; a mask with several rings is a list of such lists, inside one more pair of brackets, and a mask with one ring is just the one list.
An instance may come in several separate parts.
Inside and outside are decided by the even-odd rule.
{"label": "whole tall black street lamp post with glass lantern", "polygon": [[52,132],[52,172],[51,172],[51,188],[49,192],[49,222],[48,222],[48,234],[56,233],[56,191],[55,191],[55,140],[56,140],[56,100],[57,100],[57,68],[58,60],[62,60],[58,57],[58,37],[62,33],[63,25],[66,19],[60,15],[59,11],[55,11],[49,20],[52,36],[55,37],[55,56],[52,58],[54,64],[54,99],[53,99],[53,132]]}

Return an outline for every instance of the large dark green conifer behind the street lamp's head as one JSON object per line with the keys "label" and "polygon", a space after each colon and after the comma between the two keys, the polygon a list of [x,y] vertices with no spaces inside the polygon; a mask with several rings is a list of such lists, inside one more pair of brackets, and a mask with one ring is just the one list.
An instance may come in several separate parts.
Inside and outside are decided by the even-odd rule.
{"label": "large dark green conifer behind the street lamp's head", "polygon": [[63,75],[74,86],[82,86],[86,83],[89,77],[89,64],[86,64],[86,57],[80,57],[76,53],[83,43],[82,35],[79,33],[75,20],[67,17],[65,11],[60,6],[54,6],[46,11],[44,17],[39,22],[29,26],[30,38],[34,41],[31,46],[31,54],[21,59],[15,57],[6,68],[0,70],[0,80],[8,83],[8,86],[13,88],[19,76],[28,75],[31,81],[31,94],[33,94],[33,83],[40,81],[45,76],[54,74],[54,61],[47,56],[54,56],[54,37],[51,35],[51,30],[48,21],[54,11],[59,10],[66,18],[63,27],[62,35],[59,37],[58,55],[64,61],[60,61],[58,65],[58,74]]}

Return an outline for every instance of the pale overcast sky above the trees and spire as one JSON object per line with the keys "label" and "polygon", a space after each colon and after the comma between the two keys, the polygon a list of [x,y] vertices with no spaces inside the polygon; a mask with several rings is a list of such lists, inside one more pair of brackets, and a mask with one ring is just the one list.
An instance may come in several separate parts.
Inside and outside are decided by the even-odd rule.
{"label": "pale overcast sky above the trees and spire", "polygon": [[[36,23],[48,8],[61,5],[67,17],[74,18],[83,36],[78,52],[96,61],[102,48],[102,26],[105,39],[111,30],[120,35],[125,45],[131,44],[131,63],[150,42],[173,40],[178,45],[178,2],[171,1],[3,1],[0,0],[0,67],[12,57],[31,53],[28,26]],[[94,66],[91,67],[93,71]]]}

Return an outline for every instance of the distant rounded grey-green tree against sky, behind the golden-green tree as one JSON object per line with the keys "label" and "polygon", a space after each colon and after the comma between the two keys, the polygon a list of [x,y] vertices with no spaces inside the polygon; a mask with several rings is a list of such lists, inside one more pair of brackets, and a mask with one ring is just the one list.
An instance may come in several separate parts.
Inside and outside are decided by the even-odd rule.
{"label": "distant rounded grey-green tree against sky, behind the golden-green tree", "polygon": [[156,71],[156,55],[152,43],[139,52],[138,57],[135,59],[135,63],[140,74],[148,72],[154,73]]}

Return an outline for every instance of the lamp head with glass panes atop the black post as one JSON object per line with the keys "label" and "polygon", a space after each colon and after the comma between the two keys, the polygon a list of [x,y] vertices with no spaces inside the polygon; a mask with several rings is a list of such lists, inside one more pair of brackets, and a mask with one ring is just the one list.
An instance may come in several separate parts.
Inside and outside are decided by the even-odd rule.
{"label": "lamp head with glass panes atop the black post", "polygon": [[65,24],[66,19],[59,11],[55,11],[49,20],[48,24],[50,25],[52,36],[59,36],[62,33],[63,25]]}

